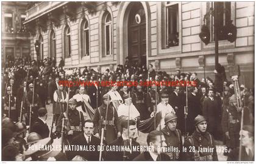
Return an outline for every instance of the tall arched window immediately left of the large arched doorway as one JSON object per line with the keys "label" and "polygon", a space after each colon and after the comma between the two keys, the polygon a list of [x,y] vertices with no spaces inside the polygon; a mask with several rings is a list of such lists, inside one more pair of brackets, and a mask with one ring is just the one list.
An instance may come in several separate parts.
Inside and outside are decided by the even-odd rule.
{"label": "tall arched window immediately left of the large arched doorway", "polygon": [[109,12],[105,13],[104,18],[104,56],[112,55],[112,17]]}

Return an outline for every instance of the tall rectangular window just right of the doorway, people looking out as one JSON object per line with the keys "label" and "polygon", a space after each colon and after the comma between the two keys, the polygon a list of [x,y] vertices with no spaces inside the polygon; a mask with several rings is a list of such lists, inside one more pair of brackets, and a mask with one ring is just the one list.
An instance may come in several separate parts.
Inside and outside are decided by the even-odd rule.
{"label": "tall rectangular window just right of the doorway, people looking out", "polygon": [[166,2],[166,48],[179,46],[179,4]]}

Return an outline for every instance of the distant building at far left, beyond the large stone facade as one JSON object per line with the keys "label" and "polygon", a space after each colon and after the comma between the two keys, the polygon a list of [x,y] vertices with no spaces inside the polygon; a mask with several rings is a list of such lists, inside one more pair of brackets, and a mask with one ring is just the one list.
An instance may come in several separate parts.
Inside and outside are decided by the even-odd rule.
{"label": "distant building at far left, beyond the large stone facade", "polygon": [[29,56],[30,38],[22,22],[26,19],[27,2],[2,3],[2,66],[8,59]]}

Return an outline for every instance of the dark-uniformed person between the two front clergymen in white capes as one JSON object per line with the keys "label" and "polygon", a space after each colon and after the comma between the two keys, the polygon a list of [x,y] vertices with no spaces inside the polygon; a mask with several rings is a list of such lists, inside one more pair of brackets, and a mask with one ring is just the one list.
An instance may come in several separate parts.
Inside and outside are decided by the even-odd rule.
{"label": "dark-uniformed person between the two front clergymen in white capes", "polygon": [[133,92],[132,100],[133,100],[135,107],[140,112],[141,120],[146,120],[147,118],[150,117],[150,113],[146,109],[146,104],[144,101],[145,97],[146,96],[145,96],[144,92],[142,91],[142,86],[138,85],[137,91]]}

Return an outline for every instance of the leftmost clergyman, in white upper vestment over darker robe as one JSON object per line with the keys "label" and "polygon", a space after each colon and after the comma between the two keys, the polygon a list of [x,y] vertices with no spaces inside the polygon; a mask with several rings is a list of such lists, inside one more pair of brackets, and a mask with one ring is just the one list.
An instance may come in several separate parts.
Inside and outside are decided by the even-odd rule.
{"label": "leftmost clergyman, in white upper vestment over darker robe", "polygon": [[68,94],[64,90],[63,84],[60,84],[59,89],[54,92],[54,103],[52,105],[55,125],[57,125],[60,114],[66,111],[66,103],[68,103]]}

